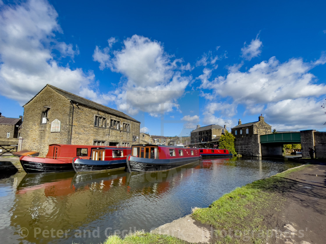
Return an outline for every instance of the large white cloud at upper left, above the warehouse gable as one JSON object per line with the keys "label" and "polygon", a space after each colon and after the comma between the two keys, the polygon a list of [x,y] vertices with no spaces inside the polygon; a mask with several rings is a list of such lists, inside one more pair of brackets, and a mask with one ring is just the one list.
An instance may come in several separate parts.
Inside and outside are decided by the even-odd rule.
{"label": "large white cloud at upper left, above the warehouse gable", "polygon": [[[56,60],[79,54],[59,42],[58,14],[46,1],[30,0],[2,6],[0,12],[0,93],[24,104],[47,83],[78,94],[88,89],[93,72],[61,67]],[[54,50],[56,52],[54,52]],[[53,53],[58,53],[57,57]],[[26,85],[28,84],[28,85]]]}

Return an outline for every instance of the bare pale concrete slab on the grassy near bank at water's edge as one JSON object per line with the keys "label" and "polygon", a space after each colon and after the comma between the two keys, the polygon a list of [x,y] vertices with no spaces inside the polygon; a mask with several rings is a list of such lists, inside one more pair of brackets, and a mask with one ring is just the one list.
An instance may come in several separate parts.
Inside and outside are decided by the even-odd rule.
{"label": "bare pale concrete slab on the grassy near bank at water's edge", "polygon": [[183,218],[161,225],[151,233],[170,235],[190,243],[210,243],[211,231],[191,218],[191,214]]}

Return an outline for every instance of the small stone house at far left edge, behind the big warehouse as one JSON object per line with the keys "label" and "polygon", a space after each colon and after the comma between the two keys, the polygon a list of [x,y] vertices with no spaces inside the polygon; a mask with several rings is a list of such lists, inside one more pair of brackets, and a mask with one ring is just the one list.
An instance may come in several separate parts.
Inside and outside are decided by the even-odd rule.
{"label": "small stone house at far left edge, behind the big warehouse", "polygon": [[18,138],[21,124],[22,116],[19,116],[19,118],[7,118],[0,113],[0,138],[2,140],[4,138]]}

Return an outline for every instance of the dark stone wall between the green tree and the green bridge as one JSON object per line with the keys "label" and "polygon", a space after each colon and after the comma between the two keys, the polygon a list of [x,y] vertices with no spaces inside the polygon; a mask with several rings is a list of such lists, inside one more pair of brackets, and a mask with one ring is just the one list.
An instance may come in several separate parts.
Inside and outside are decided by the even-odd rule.
{"label": "dark stone wall between the green tree and the green bridge", "polygon": [[243,156],[261,156],[259,135],[251,135],[234,140],[235,152]]}

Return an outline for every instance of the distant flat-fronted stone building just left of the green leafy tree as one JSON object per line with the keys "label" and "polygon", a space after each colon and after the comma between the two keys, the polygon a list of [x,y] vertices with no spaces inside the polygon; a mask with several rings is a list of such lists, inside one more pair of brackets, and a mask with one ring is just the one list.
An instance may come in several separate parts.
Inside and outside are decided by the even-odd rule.
{"label": "distant flat-fronted stone building just left of the green leafy tree", "polygon": [[207,125],[200,127],[197,125],[197,129],[190,132],[190,144],[218,141],[226,130],[226,126]]}

